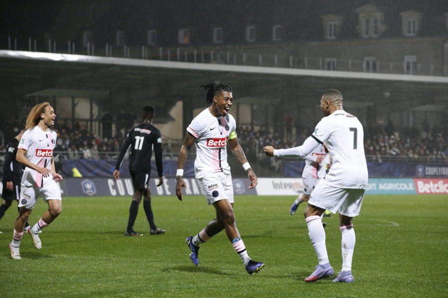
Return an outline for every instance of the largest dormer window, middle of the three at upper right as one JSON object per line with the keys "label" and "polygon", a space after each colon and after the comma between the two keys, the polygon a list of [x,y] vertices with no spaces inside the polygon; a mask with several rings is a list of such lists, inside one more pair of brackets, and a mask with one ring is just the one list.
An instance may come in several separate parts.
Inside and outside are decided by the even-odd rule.
{"label": "largest dormer window, middle of the three at upper right", "polygon": [[361,37],[378,37],[384,32],[384,13],[375,5],[367,4],[356,11],[359,13],[359,25],[356,28]]}

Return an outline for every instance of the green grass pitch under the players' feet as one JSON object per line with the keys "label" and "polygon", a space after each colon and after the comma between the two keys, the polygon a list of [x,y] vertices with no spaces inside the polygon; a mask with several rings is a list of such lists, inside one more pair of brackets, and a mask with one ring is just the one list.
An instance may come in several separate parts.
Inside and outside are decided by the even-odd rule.
{"label": "green grass pitch under the players' feet", "polygon": [[[201,246],[193,266],[184,240],[214,218],[203,197],[153,198],[150,235],[140,204],[135,230],[124,237],[129,197],[67,197],[60,217],[43,230],[42,249],[25,234],[22,260],[12,260],[16,209],[0,221],[1,297],[447,297],[448,197],[366,196],[354,220],[353,284],[307,284],[317,264],[303,219],[289,215],[293,197],[235,199],[238,229],[251,258],[266,266],[248,275],[224,232]],[[14,206],[15,207],[15,206]],[[34,224],[46,209],[41,200]],[[327,222],[327,249],[341,267],[337,217]]]}

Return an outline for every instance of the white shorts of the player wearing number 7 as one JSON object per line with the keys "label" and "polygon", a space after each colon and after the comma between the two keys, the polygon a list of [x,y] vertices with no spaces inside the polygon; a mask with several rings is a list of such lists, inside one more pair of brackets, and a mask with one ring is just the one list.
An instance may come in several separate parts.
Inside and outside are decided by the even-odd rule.
{"label": "white shorts of the player wearing number 7", "polygon": [[330,210],[333,214],[339,212],[348,217],[355,217],[361,210],[364,192],[364,189],[337,188],[321,181],[311,193],[308,204]]}

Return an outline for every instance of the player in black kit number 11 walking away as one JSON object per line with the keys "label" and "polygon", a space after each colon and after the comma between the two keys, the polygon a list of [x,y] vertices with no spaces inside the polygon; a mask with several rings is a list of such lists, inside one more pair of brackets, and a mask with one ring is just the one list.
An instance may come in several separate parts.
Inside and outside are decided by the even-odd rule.
{"label": "player in black kit number 11 walking away", "polygon": [[157,166],[157,173],[159,175],[159,183],[163,183],[163,168],[162,168],[162,136],[160,131],[152,125],[154,118],[154,107],[147,105],[143,107],[143,123],[131,128],[127,133],[127,138],[121,147],[120,154],[116,160],[115,170],[113,171],[113,178],[118,180],[120,178],[120,166],[124,154],[130,147],[129,154],[129,172],[132,177],[132,184],[134,186],[134,195],[129,207],[129,219],[127,221],[127,228],[124,232],[125,236],[141,236],[142,234],[134,231],[134,223],[137,218],[138,205],[141,202],[143,195],[143,209],[145,210],[146,219],[149,223],[149,233],[151,235],[163,234],[164,229],[157,227],[154,224],[154,215],[151,208],[151,189],[149,188],[149,177],[151,176],[151,156],[154,148],[155,161]]}

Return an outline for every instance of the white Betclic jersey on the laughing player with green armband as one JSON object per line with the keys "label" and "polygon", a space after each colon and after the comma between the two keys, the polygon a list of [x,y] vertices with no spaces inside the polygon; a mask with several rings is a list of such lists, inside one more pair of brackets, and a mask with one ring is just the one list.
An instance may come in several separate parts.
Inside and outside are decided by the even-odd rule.
{"label": "white Betclic jersey on the laughing player with green armband", "polygon": [[200,179],[209,173],[230,170],[227,163],[227,140],[236,138],[236,122],[232,115],[213,116],[205,109],[196,116],[187,131],[196,141],[195,176]]}

